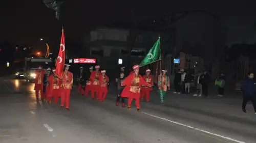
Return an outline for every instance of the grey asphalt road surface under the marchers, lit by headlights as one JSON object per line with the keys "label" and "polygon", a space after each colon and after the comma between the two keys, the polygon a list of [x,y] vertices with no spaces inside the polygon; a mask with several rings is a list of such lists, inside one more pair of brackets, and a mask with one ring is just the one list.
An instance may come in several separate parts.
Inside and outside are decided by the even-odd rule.
{"label": "grey asphalt road surface under the marchers, lit by headlights", "polygon": [[[72,92],[70,110],[36,101],[33,84],[0,79],[0,142],[256,142],[256,115],[239,99],[166,97],[158,105],[141,103],[141,112],[115,106],[115,95],[105,103]],[[76,90],[76,89],[75,89]]]}

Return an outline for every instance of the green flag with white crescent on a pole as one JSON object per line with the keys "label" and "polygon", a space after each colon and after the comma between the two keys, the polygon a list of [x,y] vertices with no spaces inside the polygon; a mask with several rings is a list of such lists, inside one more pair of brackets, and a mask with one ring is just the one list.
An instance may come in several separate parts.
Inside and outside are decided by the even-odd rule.
{"label": "green flag with white crescent on a pole", "polygon": [[160,37],[153,47],[148,51],[143,61],[140,63],[140,67],[157,62],[161,60],[161,48],[160,48]]}

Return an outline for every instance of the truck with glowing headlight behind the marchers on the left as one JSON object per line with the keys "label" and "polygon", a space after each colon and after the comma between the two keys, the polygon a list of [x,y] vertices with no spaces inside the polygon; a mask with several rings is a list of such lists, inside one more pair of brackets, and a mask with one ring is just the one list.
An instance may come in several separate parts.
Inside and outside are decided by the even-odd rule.
{"label": "truck with glowing headlight behind the marchers on the left", "polygon": [[24,77],[27,82],[34,82],[35,81],[35,71],[39,66],[42,66],[42,70],[46,70],[47,68],[52,68],[53,62],[52,59],[47,58],[25,58],[25,68],[24,68]]}

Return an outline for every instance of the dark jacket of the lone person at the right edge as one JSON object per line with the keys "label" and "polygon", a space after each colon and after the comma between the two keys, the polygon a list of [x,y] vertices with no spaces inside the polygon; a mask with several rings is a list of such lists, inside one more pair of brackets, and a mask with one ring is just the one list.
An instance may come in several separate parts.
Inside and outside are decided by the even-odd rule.
{"label": "dark jacket of the lone person at the right edge", "polygon": [[241,91],[244,96],[255,96],[256,81],[252,78],[245,79],[241,85]]}

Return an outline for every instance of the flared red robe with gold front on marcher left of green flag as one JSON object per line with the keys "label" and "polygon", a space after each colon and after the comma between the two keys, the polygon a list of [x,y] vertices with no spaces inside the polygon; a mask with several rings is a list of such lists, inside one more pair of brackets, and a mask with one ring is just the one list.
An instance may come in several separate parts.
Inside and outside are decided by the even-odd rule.
{"label": "flared red robe with gold front on marcher left of green flag", "polygon": [[151,84],[148,84],[141,75],[138,75],[136,77],[135,73],[130,74],[127,76],[122,84],[122,86],[126,85],[126,87],[123,89],[121,93],[121,97],[126,97],[126,98],[139,98],[140,97],[140,89],[142,85],[146,85],[148,87],[151,86]]}

